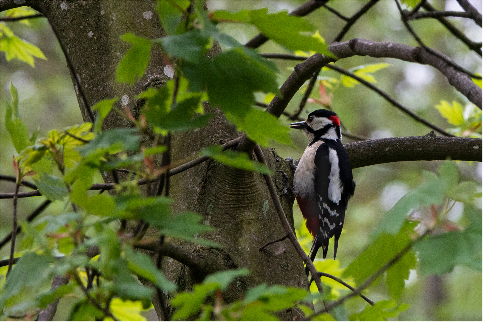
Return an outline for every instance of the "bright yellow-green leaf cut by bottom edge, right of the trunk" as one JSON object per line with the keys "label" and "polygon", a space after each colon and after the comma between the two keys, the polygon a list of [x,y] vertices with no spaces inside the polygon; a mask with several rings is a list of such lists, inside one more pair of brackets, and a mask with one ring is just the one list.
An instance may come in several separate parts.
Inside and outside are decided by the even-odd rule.
{"label": "bright yellow-green leaf cut by bottom edge, right of the trunk", "polygon": [[374,306],[367,305],[360,313],[350,316],[350,321],[387,321],[409,308],[408,304],[397,304],[395,300],[379,301]]}

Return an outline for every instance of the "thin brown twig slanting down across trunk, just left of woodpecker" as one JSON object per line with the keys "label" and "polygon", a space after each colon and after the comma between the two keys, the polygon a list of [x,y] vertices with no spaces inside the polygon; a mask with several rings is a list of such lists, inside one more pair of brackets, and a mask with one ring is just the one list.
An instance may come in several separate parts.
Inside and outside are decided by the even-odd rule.
{"label": "thin brown twig slanting down across trunk, just left of woodpecker", "polygon": [[[258,144],[255,145],[255,154],[258,159],[258,162],[261,162],[262,164],[267,166],[267,160],[265,159],[265,156],[263,155],[263,152],[260,149],[260,146]],[[300,244],[298,243],[297,236],[295,236],[294,231],[292,230],[292,228],[290,227],[290,224],[288,223],[287,217],[285,216],[284,208],[280,203],[277,189],[275,188],[275,185],[273,184],[273,181],[270,175],[264,174],[263,177],[265,178],[265,182],[267,182],[267,186],[270,191],[270,196],[272,198],[273,204],[275,205],[275,209],[277,210],[278,217],[282,222],[282,226],[284,227],[285,233],[287,233],[288,238],[292,242],[292,245],[294,245],[295,250],[298,252],[298,255],[302,258],[305,265],[309,267],[309,271],[313,274],[313,276],[315,276],[315,274],[317,274],[317,269],[315,268],[315,266],[313,266],[312,261],[307,256],[307,254],[303,251],[302,246],[300,246]],[[323,294],[324,289],[322,287],[322,282],[320,281],[320,279],[315,280],[315,284],[317,285],[317,289],[319,290],[319,293]]]}

